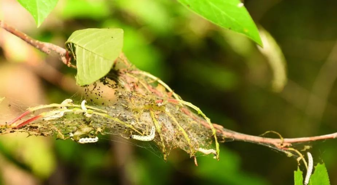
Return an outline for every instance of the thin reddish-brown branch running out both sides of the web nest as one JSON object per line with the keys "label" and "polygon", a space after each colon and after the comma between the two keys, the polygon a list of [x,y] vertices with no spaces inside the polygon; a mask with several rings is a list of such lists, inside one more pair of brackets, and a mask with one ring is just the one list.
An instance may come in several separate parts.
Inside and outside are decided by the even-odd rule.
{"label": "thin reddish-brown branch running out both sides of the web nest", "polygon": [[[52,51],[55,52],[56,54],[60,56],[63,63],[69,66],[69,63],[67,62],[67,58],[66,58],[66,50],[64,48],[56,46],[52,43],[41,42],[41,41],[35,40],[27,36],[26,34],[18,31],[17,29],[7,25],[1,20],[0,20],[0,27],[12,33],[13,35],[21,38],[22,40],[26,41],[28,44],[34,46],[35,48],[39,49],[43,53],[50,54]],[[176,102],[176,101],[172,99],[172,102]],[[183,111],[186,114],[191,115],[190,111],[188,110],[183,110]],[[204,127],[211,129],[211,126],[206,121],[201,121],[201,123]],[[216,129],[217,136],[220,138],[224,138],[225,140],[233,139],[237,141],[250,142],[250,143],[255,143],[259,145],[269,145],[269,146],[272,145],[282,150],[286,150],[288,147],[290,147],[294,143],[305,143],[305,142],[318,141],[318,140],[335,139],[337,137],[337,132],[335,132],[332,134],[313,136],[313,137],[276,139],[276,138],[267,138],[267,137],[260,137],[260,136],[253,136],[253,135],[239,133],[236,131],[225,129],[224,127],[217,125],[217,124],[213,124],[213,127]]]}

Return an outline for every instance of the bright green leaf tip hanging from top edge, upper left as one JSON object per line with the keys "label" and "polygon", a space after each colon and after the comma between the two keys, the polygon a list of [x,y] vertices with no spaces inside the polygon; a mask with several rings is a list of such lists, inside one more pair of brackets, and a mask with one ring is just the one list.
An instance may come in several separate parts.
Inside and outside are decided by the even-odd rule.
{"label": "bright green leaf tip hanging from top edge, upper left", "polygon": [[18,2],[31,13],[39,27],[55,8],[58,0],[18,0]]}

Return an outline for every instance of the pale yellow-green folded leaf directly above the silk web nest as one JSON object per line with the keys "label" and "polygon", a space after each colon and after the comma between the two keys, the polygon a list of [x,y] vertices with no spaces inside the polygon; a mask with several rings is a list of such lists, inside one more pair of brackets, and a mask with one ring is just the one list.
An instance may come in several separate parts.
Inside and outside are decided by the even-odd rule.
{"label": "pale yellow-green folded leaf directly above the silk web nest", "polygon": [[78,30],[71,34],[66,47],[76,59],[76,83],[88,85],[104,77],[123,48],[122,29]]}

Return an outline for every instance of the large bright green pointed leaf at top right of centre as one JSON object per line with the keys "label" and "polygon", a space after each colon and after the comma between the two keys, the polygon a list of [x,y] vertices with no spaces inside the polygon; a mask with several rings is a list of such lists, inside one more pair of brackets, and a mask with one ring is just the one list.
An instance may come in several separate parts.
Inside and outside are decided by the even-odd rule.
{"label": "large bright green pointed leaf at top right of centre", "polygon": [[181,4],[232,31],[246,35],[262,46],[254,21],[240,0],[178,0]]}

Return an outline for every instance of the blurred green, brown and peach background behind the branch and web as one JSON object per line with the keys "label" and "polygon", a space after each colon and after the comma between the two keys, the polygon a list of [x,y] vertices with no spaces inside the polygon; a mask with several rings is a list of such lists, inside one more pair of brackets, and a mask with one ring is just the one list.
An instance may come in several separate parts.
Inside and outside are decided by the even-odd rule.
{"label": "blurred green, brown and peach background behind the branch and web", "polygon": [[[85,28],[123,28],[124,53],[160,77],[213,123],[283,137],[336,132],[337,1],[245,0],[250,15],[278,42],[287,83],[274,91],[272,62],[248,38],[221,29],[175,0],[60,0],[40,28],[16,0],[0,0],[0,19],[28,35],[63,46]],[[62,102],[80,90],[75,70],[0,31],[2,121],[27,106]],[[284,73],[281,72],[281,73]],[[14,103],[13,103],[14,102]],[[273,136],[273,135],[271,135]],[[52,137],[0,136],[5,185],[292,185],[295,158],[245,142],[221,144],[220,161],[180,150],[168,162],[151,150],[101,136],[80,145]],[[336,141],[310,143],[337,184]]]}

